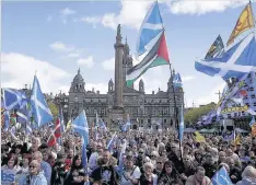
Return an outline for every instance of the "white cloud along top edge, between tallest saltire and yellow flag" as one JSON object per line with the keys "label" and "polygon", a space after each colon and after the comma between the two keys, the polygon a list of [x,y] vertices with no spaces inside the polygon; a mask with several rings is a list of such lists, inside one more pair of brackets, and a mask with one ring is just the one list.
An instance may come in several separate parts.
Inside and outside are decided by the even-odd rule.
{"label": "white cloud along top edge, between tallest saltire and yellow flag", "polygon": [[247,3],[244,0],[201,1],[201,0],[167,0],[166,4],[174,14],[203,14],[221,12]]}

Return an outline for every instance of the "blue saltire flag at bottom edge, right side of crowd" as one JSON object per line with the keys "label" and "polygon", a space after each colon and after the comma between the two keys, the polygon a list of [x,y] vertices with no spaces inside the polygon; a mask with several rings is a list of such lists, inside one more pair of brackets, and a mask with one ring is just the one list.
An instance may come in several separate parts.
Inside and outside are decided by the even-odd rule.
{"label": "blue saltire flag at bottom edge, right side of crowd", "polygon": [[221,167],[211,178],[213,185],[233,185],[225,167]]}

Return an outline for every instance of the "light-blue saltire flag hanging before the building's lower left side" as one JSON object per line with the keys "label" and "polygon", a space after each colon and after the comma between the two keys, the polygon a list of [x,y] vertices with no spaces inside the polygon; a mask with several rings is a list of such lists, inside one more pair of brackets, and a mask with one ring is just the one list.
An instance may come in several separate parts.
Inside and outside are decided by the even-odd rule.
{"label": "light-blue saltire flag hanging before the building's lower left side", "polygon": [[78,132],[84,139],[84,144],[89,143],[89,127],[88,127],[88,118],[84,109],[78,115],[78,117],[72,123],[72,128],[75,132]]}

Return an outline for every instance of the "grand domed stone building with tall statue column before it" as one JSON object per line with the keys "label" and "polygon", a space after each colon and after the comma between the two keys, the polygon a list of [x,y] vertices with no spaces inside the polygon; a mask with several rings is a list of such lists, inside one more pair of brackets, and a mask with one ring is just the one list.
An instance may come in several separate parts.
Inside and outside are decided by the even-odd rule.
{"label": "grand domed stone building with tall statue column before it", "polygon": [[[112,79],[108,81],[108,92],[101,94],[100,91],[86,91],[86,83],[79,69],[71,82],[68,106],[65,108],[68,117],[75,118],[84,109],[89,123],[95,122],[97,113],[98,117],[112,129],[118,128],[119,123],[126,122],[128,115],[133,129],[138,127],[175,127],[174,107],[175,102],[178,109],[184,105],[183,89],[176,89],[174,92],[172,77],[166,84],[166,91],[159,90],[147,94],[144,92],[147,84],[142,80],[139,81],[139,90],[136,90],[133,84],[128,88],[126,71],[133,63],[127,41],[125,44],[121,43],[120,25],[117,27],[114,48],[115,81]],[[175,71],[173,70],[172,73]]]}

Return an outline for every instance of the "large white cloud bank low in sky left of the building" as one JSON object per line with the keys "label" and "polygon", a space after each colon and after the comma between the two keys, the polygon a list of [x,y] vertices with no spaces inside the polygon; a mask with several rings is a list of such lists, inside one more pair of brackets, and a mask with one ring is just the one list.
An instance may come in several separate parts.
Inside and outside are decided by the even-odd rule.
{"label": "large white cloud bank low in sky left of the building", "polygon": [[59,90],[62,92],[69,90],[69,84],[63,83],[62,80],[69,82],[72,76],[48,61],[18,53],[2,53],[1,60],[2,88],[21,89],[24,84],[31,84],[32,88],[36,71],[43,92],[57,93]]}

